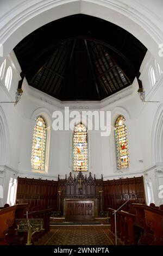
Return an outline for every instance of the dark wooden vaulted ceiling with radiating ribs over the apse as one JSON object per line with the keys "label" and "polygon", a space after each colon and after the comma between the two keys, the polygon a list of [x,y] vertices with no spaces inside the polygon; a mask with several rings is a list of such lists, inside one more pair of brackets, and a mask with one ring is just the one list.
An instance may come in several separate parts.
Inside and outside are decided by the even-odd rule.
{"label": "dark wooden vaulted ceiling with radiating ribs over the apse", "polygon": [[102,100],[134,81],[147,49],[121,27],[78,14],[40,27],[14,51],[30,86],[59,100]]}

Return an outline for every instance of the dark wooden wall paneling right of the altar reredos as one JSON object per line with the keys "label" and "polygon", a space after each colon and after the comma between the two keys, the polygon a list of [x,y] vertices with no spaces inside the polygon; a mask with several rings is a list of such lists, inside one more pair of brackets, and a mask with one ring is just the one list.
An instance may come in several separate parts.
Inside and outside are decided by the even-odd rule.
{"label": "dark wooden wall paneling right of the altar reredos", "polygon": [[143,176],[103,181],[104,210],[107,207],[118,209],[130,197],[133,197],[123,210],[129,209],[130,203],[145,204]]}

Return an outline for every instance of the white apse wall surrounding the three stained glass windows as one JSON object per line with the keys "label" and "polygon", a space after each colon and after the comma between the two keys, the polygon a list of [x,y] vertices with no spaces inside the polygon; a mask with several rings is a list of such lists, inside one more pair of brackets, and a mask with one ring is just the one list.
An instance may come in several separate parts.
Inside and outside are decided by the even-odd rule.
{"label": "white apse wall surrounding the three stained glass windows", "polygon": [[[7,58],[7,66],[9,65],[12,67],[14,78],[9,92],[5,88],[5,79],[3,78],[0,81],[1,101],[15,100],[15,92],[20,80],[20,66],[13,52]],[[154,67],[156,74],[156,82],[153,86],[149,86],[149,68],[151,66]],[[5,161],[1,159],[0,163],[1,184],[7,188],[10,178],[17,176],[56,180],[58,174],[61,178],[65,174],[68,175],[72,171],[73,132],[54,131],[52,128],[52,114],[57,110],[63,111],[65,106],[80,112],[82,110],[98,109],[101,111],[111,111],[111,135],[109,137],[102,137],[100,131],[89,131],[89,171],[92,175],[95,174],[96,178],[101,178],[101,174],[103,174],[104,179],[144,175],[146,193],[147,187],[151,186],[149,184],[153,186],[151,188],[153,199],[152,196],[150,199],[150,196],[147,195],[148,201],[154,200],[160,204],[162,199],[158,198],[158,185],[163,183],[162,159],[159,160],[158,166],[158,159],[156,159],[155,150],[153,150],[153,147],[156,146],[153,145],[152,138],[156,132],[156,128],[153,127],[154,125],[156,126],[156,113],[162,104],[162,73],[159,75],[158,71],[156,71],[155,60],[149,52],[146,54],[140,71],[140,79],[147,95],[146,99],[159,102],[143,103],[137,94],[138,84],[136,80],[131,87],[101,102],[60,102],[34,88],[30,88],[27,81],[24,80],[23,95],[20,102],[16,106],[13,103],[1,103],[5,119],[7,120],[4,126],[8,130],[8,140],[10,142],[6,153],[7,157],[4,159]],[[30,164],[35,118],[40,114],[47,121],[50,136],[48,172],[33,172]],[[126,118],[130,167],[117,170],[114,124],[120,114]],[[160,134],[162,133],[160,132]],[[158,175],[156,179],[155,175]],[[4,202],[6,198],[7,191],[5,192]]]}

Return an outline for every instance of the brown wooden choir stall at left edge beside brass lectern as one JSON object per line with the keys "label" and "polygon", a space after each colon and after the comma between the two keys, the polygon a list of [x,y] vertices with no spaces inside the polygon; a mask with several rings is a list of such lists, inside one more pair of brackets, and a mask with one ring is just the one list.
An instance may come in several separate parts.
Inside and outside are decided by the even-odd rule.
{"label": "brown wooden choir stall at left edge beside brass lectern", "polygon": [[14,220],[15,218],[23,218],[24,211],[28,209],[28,204],[16,204],[8,208],[0,210],[0,245],[7,245],[7,231],[12,229],[11,236],[14,238]]}

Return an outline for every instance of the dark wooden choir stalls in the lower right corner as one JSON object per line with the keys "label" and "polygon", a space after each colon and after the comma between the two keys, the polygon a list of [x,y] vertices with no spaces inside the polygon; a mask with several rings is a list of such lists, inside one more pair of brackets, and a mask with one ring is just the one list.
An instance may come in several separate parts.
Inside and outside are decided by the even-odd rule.
{"label": "dark wooden choir stalls in the lower right corner", "polygon": [[[117,237],[127,245],[163,245],[163,210],[160,209],[158,206],[133,203],[130,212],[117,211]],[[115,234],[115,218],[112,215],[114,209],[107,210],[110,215],[111,232]]]}

